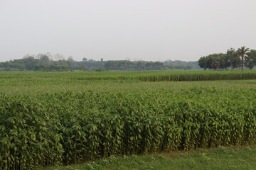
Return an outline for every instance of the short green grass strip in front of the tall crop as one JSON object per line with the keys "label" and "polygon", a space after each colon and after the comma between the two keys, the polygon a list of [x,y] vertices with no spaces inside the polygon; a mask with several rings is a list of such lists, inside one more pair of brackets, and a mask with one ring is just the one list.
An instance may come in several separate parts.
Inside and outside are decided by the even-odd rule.
{"label": "short green grass strip in front of the tall crop", "polygon": [[46,167],[43,170],[130,170],[130,169],[256,169],[256,146],[218,147],[176,151],[142,156],[122,156],[71,166]]}

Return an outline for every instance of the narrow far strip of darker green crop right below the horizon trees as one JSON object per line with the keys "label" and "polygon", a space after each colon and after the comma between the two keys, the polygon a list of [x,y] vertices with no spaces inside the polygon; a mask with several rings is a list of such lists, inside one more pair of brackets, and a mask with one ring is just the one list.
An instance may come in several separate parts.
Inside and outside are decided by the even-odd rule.
{"label": "narrow far strip of darker green crop right below the horizon trees", "polygon": [[236,80],[256,79],[256,70],[225,71],[145,71],[145,72],[0,72],[2,80],[26,81],[202,81],[202,80]]}

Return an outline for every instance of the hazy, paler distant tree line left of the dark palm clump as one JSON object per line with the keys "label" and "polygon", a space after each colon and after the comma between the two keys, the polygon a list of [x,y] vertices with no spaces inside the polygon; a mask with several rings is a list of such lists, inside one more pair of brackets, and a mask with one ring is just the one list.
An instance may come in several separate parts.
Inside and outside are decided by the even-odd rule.
{"label": "hazy, paler distant tree line left of the dark palm clump", "polygon": [[50,53],[38,55],[26,55],[22,59],[0,62],[0,71],[95,71],[101,72],[105,70],[168,70],[168,69],[200,69],[197,62],[181,62],[167,60],[165,62],[148,62],[148,61],[129,61],[129,60],[110,60],[99,61],[88,60],[82,58],[81,61],[73,60],[68,57],[67,60],[62,55],[55,55],[55,60]]}

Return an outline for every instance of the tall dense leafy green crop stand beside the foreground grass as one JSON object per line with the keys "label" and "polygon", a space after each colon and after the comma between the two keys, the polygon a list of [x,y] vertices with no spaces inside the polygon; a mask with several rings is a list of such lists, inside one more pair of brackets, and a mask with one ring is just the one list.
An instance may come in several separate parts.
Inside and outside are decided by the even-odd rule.
{"label": "tall dense leafy green crop stand beside the foreground grass", "polygon": [[0,94],[0,169],[256,143],[255,89]]}

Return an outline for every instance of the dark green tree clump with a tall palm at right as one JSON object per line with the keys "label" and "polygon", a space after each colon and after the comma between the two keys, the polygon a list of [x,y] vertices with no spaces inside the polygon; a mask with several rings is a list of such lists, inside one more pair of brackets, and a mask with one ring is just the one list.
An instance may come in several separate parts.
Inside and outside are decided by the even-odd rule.
{"label": "dark green tree clump with a tall palm at right", "polygon": [[240,47],[238,50],[230,48],[225,53],[201,57],[198,64],[203,69],[243,69],[244,65],[252,69],[256,66],[256,50],[249,50],[246,47]]}

